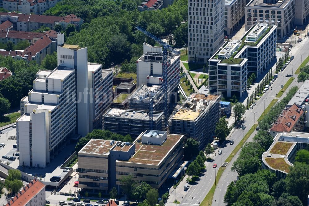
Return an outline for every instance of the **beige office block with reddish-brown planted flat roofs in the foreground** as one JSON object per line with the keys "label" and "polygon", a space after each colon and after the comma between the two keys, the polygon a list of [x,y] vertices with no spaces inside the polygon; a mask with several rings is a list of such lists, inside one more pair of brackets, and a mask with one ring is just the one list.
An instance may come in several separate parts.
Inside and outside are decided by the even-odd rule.
{"label": "beige office block with reddish-brown planted flat roofs in the foreground", "polygon": [[91,139],[78,152],[78,187],[120,191],[120,179],[131,175],[159,189],[183,158],[183,137],[147,130],[133,143]]}

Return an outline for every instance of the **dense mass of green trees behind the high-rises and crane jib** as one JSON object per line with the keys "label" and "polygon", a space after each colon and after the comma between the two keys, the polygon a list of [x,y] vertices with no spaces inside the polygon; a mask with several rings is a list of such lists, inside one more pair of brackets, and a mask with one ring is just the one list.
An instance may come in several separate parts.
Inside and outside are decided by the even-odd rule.
{"label": "dense mass of green trees behind the high-rises and crane jib", "polygon": [[[140,26],[155,36],[175,36],[176,45],[187,41],[188,1],[176,0],[172,5],[158,11],[139,12],[140,0],[63,0],[44,14],[75,14],[84,19],[79,32],[66,33],[66,43],[88,47],[88,61],[108,68],[111,64],[124,64],[121,69],[135,72],[136,60],[143,53],[142,44],[155,42],[142,32]],[[131,67],[129,65],[132,65]]]}

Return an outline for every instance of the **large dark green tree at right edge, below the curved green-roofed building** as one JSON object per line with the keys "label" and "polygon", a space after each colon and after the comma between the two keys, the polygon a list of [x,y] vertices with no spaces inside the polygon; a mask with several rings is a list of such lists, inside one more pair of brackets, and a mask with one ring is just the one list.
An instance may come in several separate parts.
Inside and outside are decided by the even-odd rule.
{"label": "large dark green tree at right edge, below the curved green-roofed building", "polygon": [[290,167],[290,172],[286,176],[286,190],[291,195],[296,195],[307,204],[309,191],[309,165],[302,162],[294,162],[294,167]]}

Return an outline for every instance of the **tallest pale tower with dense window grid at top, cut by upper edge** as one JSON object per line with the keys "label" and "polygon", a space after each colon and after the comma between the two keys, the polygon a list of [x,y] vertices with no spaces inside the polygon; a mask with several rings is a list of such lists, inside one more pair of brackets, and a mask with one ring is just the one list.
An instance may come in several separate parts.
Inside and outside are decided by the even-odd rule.
{"label": "tallest pale tower with dense window grid at top, cut by upper edge", "polygon": [[206,63],[224,41],[224,1],[189,0],[188,61]]}

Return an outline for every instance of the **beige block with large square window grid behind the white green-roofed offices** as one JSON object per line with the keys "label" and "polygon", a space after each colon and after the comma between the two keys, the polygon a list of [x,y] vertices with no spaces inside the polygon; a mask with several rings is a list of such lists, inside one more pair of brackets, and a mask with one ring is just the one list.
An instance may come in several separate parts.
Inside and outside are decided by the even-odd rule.
{"label": "beige block with large square window grid behind the white green-roofed offices", "polygon": [[294,29],[295,2],[295,0],[250,1],[245,8],[245,30],[248,31],[253,24],[266,23],[277,26],[277,38],[284,38]]}

